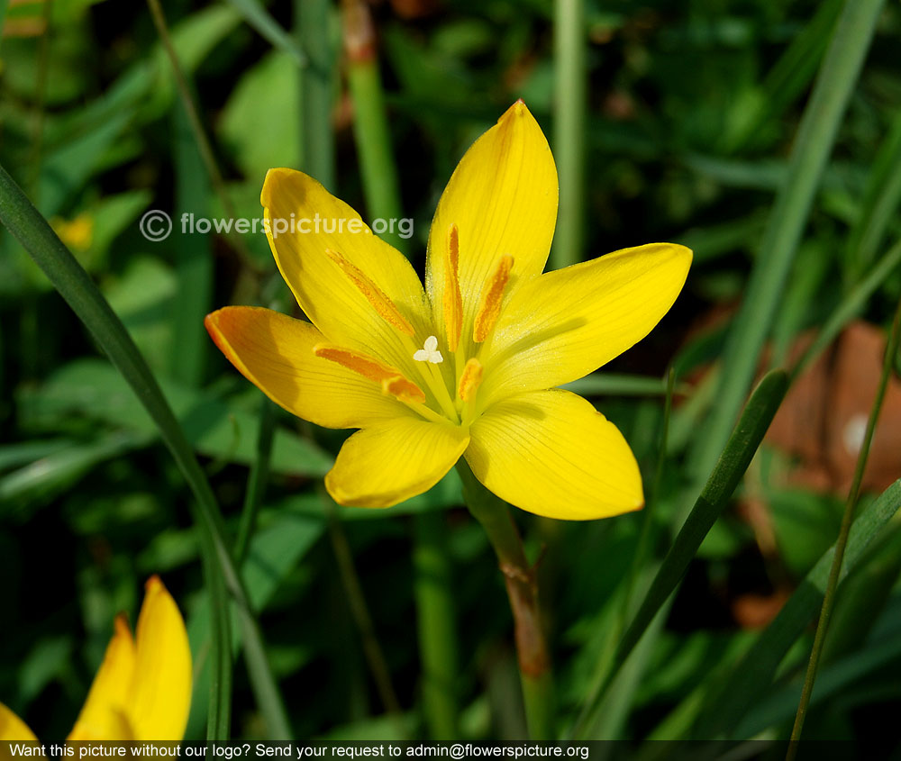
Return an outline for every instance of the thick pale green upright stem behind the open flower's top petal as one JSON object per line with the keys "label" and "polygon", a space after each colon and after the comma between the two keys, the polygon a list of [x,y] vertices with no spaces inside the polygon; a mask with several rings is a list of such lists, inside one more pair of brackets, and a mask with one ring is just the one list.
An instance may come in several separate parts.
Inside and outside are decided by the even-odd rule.
{"label": "thick pale green upright stem behind the open flower's top petal", "polygon": [[585,197],[584,0],[556,0],[554,23],[554,157],[560,173],[560,212],[551,267],[582,260]]}

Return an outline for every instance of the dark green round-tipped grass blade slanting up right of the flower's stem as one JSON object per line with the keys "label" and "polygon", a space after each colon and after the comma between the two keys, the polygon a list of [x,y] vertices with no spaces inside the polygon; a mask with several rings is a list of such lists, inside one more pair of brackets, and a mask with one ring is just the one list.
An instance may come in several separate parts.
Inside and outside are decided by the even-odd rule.
{"label": "dark green round-tipped grass blade slanting up right of the flower's stem", "polygon": [[742,412],[742,417],[735,426],[733,435],[723,450],[713,472],[698,496],[695,506],[688,515],[685,524],[679,530],[672,547],[664,557],[660,570],[651,582],[642,605],[633,618],[629,628],[620,640],[613,657],[613,665],[607,672],[603,683],[598,684],[586,701],[579,714],[573,738],[584,739],[596,724],[598,707],[601,705],[610,684],[613,683],[617,671],[623,666],[626,658],[635,645],[642,639],[651,621],[654,620],[660,607],[676,589],[688,564],[695,557],[697,548],[701,546],[707,532],[723,512],[732,497],[745,470],[751,464],[751,458],[760,441],[769,428],[769,423],[782,403],[788,387],[786,374],[781,370],[773,370],[764,376],[760,384],[751,394],[751,399]]}

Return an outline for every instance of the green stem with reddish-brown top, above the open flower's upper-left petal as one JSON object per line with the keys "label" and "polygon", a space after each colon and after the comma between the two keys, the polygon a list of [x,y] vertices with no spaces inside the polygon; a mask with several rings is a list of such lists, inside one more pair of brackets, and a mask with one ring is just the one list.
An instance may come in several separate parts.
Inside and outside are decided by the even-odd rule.
{"label": "green stem with reddish-brown top, above the open flower's upper-left petal", "polygon": [[[360,0],[343,0],[341,29],[347,55],[347,82],[353,102],[353,136],[370,221],[380,219],[389,224],[396,223],[402,213],[400,189],[369,5]],[[405,249],[406,241],[396,230],[389,228],[379,235],[396,249]]]}

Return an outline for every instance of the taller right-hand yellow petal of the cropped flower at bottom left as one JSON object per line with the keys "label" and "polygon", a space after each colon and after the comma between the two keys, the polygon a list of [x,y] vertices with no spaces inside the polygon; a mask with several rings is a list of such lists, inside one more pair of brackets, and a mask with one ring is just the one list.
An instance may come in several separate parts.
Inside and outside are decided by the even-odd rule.
{"label": "taller right-hand yellow petal of the cropped flower at bottom left", "polygon": [[191,649],[185,621],[157,576],[147,582],[138,617],[127,708],[135,739],[185,737],[191,708]]}

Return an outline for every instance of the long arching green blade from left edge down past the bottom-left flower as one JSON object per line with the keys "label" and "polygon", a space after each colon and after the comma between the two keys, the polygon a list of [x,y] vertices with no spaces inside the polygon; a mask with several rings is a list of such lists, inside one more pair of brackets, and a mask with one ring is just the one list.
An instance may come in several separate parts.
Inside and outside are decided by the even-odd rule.
{"label": "long arching green blade from left edge down past the bottom-left flower", "polygon": [[[216,564],[211,567],[219,568],[225,587],[237,605],[250,683],[267,720],[268,734],[290,739],[287,716],[268,667],[262,636],[226,543],[219,505],[150,367],[84,268],[3,167],[0,167],[0,222],[19,240],[72,311],[85,323],[156,422],[160,438],[196,497],[188,504],[198,529],[209,535],[210,546],[215,550]],[[228,601],[220,600],[217,604],[227,607]],[[223,701],[230,699],[231,695],[223,694]]]}

